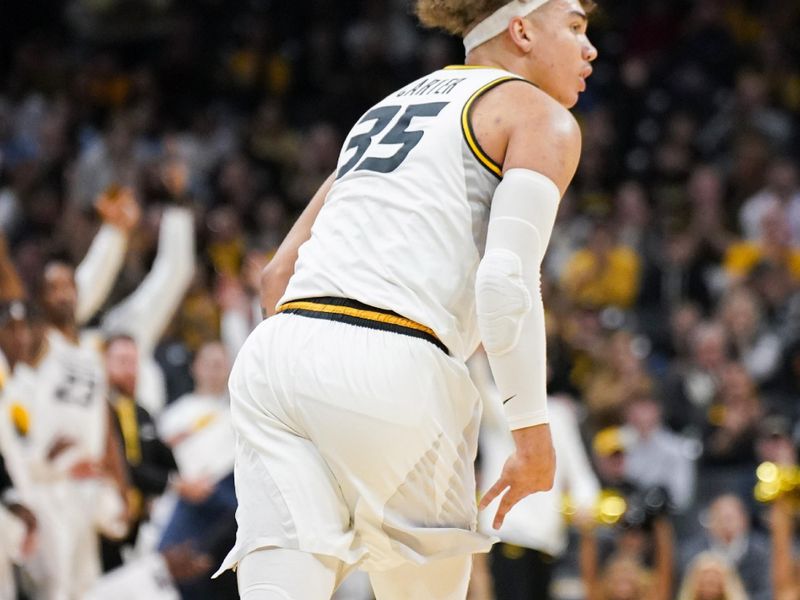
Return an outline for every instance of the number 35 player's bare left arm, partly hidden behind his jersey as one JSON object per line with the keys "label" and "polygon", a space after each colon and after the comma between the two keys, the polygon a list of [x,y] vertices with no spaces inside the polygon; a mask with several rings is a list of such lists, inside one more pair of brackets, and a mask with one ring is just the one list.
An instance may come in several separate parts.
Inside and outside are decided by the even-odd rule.
{"label": "number 35 player's bare left arm, partly hidden behind his jersey", "polygon": [[331,191],[333,180],[334,175],[331,175],[320,186],[311,202],[306,206],[303,214],[300,215],[300,218],[297,219],[286,235],[275,256],[264,267],[261,275],[261,310],[264,312],[265,317],[275,313],[275,306],[286,291],[289,279],[294,274],[297,252],[300,246],[311,237],[311,227],[314,225],[314,221],[316,221],[317,215],[325,203],[328,192]]}

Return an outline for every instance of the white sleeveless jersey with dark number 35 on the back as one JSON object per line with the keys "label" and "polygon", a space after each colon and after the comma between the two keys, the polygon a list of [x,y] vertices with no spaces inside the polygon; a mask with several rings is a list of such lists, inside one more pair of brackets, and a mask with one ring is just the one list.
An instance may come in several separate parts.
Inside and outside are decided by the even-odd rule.
{"label": "white sleeveless jersey with dark number 35 on the back", "polygon": [[502,168],[470,109],[517,75],[448,67],[391,94],[355,124],[336,180],[300,247],[281,303],[349,298],[432,329],[466,358],[480,337],[475,272]]}

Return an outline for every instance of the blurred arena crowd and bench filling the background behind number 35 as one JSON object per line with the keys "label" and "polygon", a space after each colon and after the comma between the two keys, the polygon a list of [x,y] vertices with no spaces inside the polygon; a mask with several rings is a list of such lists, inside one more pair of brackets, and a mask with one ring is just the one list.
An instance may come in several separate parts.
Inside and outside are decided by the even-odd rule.
{"label": "blurred arena crowd and bench filling the background behind number 35", "polygon": [[[15,4],[0,598],[235,598],[208,577],[260,270],[359,115],[463,49],[405,0]],[[569,543],[504,537],[472,593],[794,598],[794,508],[753,490],[800,442],[800,4],[599,4],[543,274],[549,391],[594,492],[551,509]]]}

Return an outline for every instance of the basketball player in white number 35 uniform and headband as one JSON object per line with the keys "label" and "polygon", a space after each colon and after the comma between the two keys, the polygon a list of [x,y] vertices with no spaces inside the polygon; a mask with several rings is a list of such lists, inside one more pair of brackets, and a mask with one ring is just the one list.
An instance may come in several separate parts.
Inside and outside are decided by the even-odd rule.
{"label": "basketball player in white number 35 uniform and headband", "polygon": [[[539,271],[578,163],[573,106],[596,56],[579,0],[418,0],[466,65],[369,109],[265,272],[234,365],[244,600],[329,598],[354,565],[377,597],[464,598],[477,533],[479,342],[515,452],[482,500],[552,485]],[[312,228],[313,226],[313,228]],[[302,244],[302,247],[301,247]],[[290,279],[291,278],[291,279]],[[287,284],[288,282],[288,284]]]}

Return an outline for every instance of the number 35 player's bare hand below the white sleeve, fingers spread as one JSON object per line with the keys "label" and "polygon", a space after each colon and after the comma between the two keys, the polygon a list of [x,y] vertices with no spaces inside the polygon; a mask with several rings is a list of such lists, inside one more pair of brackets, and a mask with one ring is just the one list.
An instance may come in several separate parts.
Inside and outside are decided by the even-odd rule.
{"label": "number 35 player's bare hand below the white sleeve, fingers spread", "polygon": [[552,488],[555,476],[556,455],[549,425],[517,429],[512,435],[517,449],[508,457],[500,479],[484,494],[479,505],[483,510],[505,492],[492,524],[495,529],[500,529],[511,507],[525,496]]}

